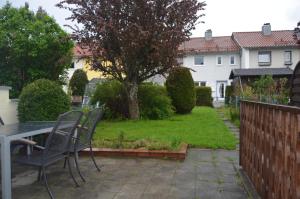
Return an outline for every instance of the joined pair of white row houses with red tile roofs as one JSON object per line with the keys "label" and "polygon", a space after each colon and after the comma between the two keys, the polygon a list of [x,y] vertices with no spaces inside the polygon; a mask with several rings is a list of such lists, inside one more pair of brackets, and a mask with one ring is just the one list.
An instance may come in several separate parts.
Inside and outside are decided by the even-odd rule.
{"label": "joined pair of white row houses with red tile roofs", "polygon": [[270,24],[264,24],[262,31],[234,32],[228,37],[212,37],[208,30],[205,37],[181,45],[181,62],[194,71],[196,85],[210,86],[214,100],[222,101],[225,86],[233,79],[253,80],[267,74],[291,77],[300,60],[298,39],[294,30],[272,31]]}

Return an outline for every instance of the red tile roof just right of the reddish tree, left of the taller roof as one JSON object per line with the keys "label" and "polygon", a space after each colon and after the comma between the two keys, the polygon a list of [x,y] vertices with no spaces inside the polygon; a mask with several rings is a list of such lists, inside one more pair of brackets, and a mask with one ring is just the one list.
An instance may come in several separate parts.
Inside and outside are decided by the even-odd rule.
{"label": "red tile roof just right of the reddish tree, left of the taller roof", "polygon": [[210,40],[195,37],[180,45],[179,50],[186,53],[235,52],[239,51],[239,47],[230,36],[212,37]]}

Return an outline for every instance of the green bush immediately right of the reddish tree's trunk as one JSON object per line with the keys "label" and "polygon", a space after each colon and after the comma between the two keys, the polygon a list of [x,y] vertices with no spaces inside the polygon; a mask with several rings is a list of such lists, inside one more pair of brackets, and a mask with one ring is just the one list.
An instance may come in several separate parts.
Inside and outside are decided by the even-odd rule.
{"label": "green bush immediately right of the reddish tree's trunk", "polygon": [[173,114],[171,99],[163,86],[142,84],[138,91],[140,114],[146,119],[163,119]]}

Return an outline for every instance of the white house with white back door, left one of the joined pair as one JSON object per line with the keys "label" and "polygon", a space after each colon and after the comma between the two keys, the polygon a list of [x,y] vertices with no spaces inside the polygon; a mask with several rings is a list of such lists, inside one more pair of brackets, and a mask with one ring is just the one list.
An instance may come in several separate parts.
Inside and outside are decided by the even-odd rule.
{"label": "white house with white back door, left one of the joined pair", "polygon": [[183,43],[181,64],[191,70],[196,86],[209,86],[212,97],[224,100],[228,77],[232,69],[240,68],[240,48],[232,37],[212,37],[207,30],[205,37],[191,38]]}

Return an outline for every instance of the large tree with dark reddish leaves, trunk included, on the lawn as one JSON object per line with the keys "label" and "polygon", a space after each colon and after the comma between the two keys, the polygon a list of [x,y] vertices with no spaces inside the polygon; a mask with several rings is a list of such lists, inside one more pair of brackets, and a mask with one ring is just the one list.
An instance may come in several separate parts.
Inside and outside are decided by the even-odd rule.
{"label": "large tree with dark reddish leaves, trunk included, on the lawn", "polygon": [[138,85],[176,66],[205,7],[197,0],[63,0],[80,24],[73,33],[92,53],[92,68],[126,88],[131,119],[139,118]]}

